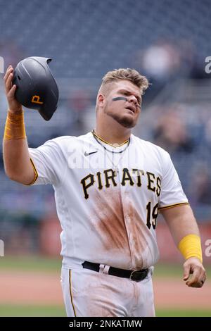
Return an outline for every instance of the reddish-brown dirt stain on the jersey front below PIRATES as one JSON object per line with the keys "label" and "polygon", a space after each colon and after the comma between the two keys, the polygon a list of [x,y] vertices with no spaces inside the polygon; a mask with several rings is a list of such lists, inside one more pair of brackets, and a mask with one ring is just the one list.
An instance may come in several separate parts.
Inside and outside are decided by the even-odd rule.
{"label": "reddish-brown dirt stain on the jersey front below PIRATES", "polygon": [[146,265],[151,234],[126,192],[123,198],[118,187],[96,192],[91,223],[103,249],[119,251],[122,261],[131,261],[129,268]]}

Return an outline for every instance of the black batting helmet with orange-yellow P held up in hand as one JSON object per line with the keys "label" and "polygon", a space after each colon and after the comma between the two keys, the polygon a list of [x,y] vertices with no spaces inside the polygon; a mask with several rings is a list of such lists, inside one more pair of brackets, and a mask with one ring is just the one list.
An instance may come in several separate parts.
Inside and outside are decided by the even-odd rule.
{"label": "black batting helmet with orange-yellow P held up in hand", "polygon": [[58,86],[48,63],[51,58],[24,58],[14,70],[13,84],[17,85],[15,99],[27,108],[36,109],[50,120],[58,104]]}

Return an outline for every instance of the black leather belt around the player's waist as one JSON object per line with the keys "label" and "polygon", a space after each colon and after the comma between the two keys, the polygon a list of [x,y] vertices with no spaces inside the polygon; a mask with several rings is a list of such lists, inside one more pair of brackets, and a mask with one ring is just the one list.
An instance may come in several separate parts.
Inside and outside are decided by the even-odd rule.
{"label": "black leather belt around the player's waist", "polygon": [[[92,262],[84,261],[84,263],[82,263],[82,266],[83,268],[89,270],[94,270],[97,272],[100,271],[100,263],[92,263]],[[140,282],[141,280],[144,280],[144,278],[146,278],[146,276],[148,275],[148,269],[124,270],[124,269],[109,267],[108,275],[113,275],[122,278],[129,278],[130,280],[134,280],[135,282]]]}

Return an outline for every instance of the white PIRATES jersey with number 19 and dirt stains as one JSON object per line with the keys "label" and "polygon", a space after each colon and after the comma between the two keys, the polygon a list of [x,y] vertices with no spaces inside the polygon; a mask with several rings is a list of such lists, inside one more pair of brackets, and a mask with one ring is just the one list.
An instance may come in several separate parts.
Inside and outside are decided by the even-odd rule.
{"label": "white PIRATES jersey with number 19 and dirt stains", "polygon": [[167,151],[134,135],[113,147],[89,132],[49,140],[30,156],[34,184],[55,190],[64,266],[140,269],[158,261],[158,210],[188,204]]}

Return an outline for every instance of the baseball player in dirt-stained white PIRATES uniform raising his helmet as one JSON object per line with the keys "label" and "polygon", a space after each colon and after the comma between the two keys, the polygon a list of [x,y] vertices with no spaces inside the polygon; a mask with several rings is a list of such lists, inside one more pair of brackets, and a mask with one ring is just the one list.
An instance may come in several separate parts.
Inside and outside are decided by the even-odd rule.
{"label": "baseball player in dirt-stained white PIRATES uniform raising his helmet", "polygon": [[[13,68],[4,77],[8,116],[4,165],[11,180],[51,184],[63,231],[61,282],[68,316],[155,316],[152,273],[162,213],[185,258],[184,281],[202,287],[198,226],[170,155],[132,135],[146,77],[108,72],[96,99],[96,126],[79,137],[27,146]],[[192,274],[192,277],[190,277]]]}

